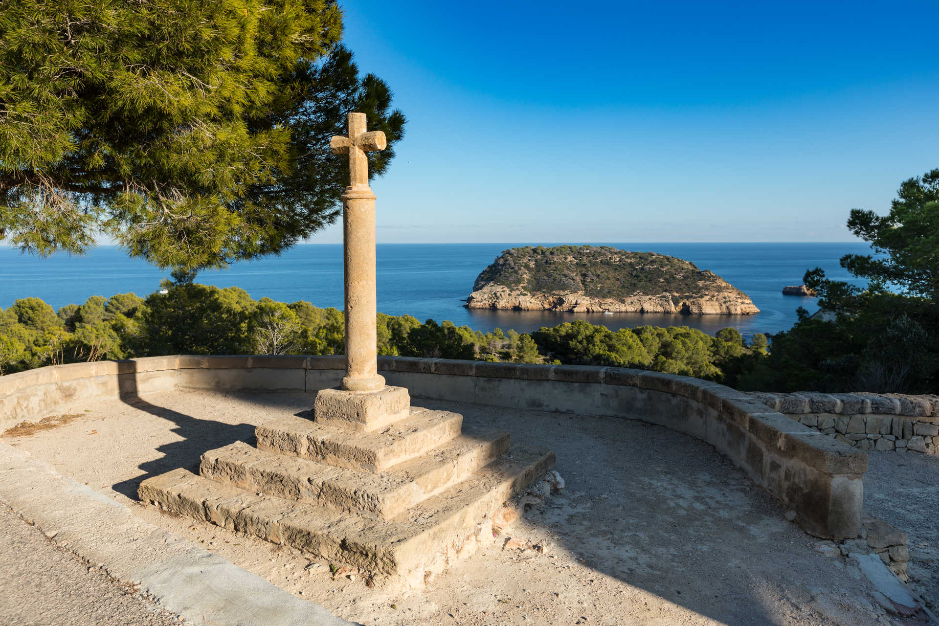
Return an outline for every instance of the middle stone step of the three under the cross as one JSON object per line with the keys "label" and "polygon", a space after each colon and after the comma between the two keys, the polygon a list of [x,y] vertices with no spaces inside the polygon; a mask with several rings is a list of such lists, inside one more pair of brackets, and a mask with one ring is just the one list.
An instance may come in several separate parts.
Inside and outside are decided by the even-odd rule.
{"label": "middle stone step of the three under the cross", "polygon": [[509,434],[483,430],[381,473],[258,450],[242,441],[202,455],[199,474],[248,491],[392,519],[469,477],[509,448]]}

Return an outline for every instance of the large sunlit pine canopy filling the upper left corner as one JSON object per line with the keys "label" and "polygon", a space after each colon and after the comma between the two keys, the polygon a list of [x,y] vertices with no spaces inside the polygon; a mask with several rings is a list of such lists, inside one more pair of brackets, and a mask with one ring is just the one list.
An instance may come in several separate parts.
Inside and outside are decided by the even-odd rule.
{"label": "large sunlit pine canopy filling the upper left corner", "polygon": [[158,267],[283,252],[335,220],[329,139],[405,118],[339,43],[333,0],[23,0],[0,9],[0,239]]}

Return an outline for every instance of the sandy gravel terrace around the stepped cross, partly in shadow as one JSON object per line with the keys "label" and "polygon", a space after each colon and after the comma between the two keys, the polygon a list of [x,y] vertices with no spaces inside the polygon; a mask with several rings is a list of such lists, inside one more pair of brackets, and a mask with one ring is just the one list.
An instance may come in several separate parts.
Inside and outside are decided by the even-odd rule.
{"label": "sandy gravel terrace around the stepped cross, partly in shadow", "polygon": [[[414,404],[458,411],[468,425],[503,428],[516,442],[553,448],[567,481],[567,489],[528,511],[509,535],[423,591],[332,581],[328,564],[310,564],[296,551],[151,508],[133,510],[369,626],[893,623],[850,559],[816,551],[818,540],[788,523],[785,509],[697,439],[630,420]],[[143,479],[179,466],[194,469],[203,451],[251,441],[254,424],[311,405],[304,394],[174,391],[79,407],[82,415],[69,423],[4,440],[133,504]],[[905,476],[912,453],[884,454],[871,454],[867,495],[878,506],[916,510],[918,499],[909,500],[890,479],[873,478]],[[927,464],[922,471],[923,480],[939,484],[939,468]],[[872,512],[911,530],[905,520]],[[503,547],[509,536],[545,551]]]}

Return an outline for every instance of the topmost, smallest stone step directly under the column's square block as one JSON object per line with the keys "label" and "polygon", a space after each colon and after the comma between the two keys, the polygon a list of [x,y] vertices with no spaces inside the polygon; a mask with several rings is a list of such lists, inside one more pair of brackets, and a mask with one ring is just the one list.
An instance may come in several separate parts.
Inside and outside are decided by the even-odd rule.
{"label": "topmost, smallest stone step directly under the column's square block", "polygon": [[412,406],[407,419],[377,431],[352,431],[291,416],[266,421],[254,435],[260,450],[377,472],[450,441],[462,425],[459,413]]}

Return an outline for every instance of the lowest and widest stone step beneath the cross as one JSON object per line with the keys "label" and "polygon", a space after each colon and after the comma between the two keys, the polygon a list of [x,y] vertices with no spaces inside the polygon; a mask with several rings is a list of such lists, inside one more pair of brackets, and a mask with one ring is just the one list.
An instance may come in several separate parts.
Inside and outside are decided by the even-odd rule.
{"label": "lowest and widest stone step beneath the cross", "polygon": [[419,587],[451,558],[471,552],[469,543],[489,533],[485,518],[553,465],[551,450],[513,446],[467,480],[393,520],[258,495],[186,469],[143,481],[139,496],[165,511],[286,544],[326,562],[400,575]]}

